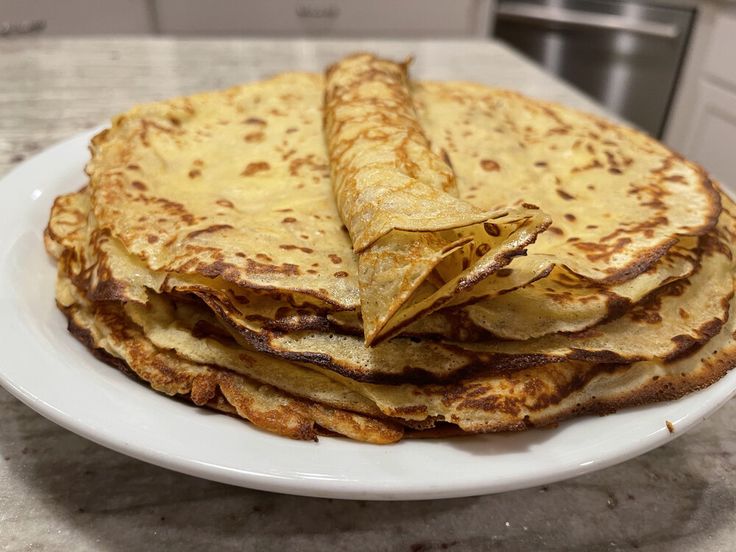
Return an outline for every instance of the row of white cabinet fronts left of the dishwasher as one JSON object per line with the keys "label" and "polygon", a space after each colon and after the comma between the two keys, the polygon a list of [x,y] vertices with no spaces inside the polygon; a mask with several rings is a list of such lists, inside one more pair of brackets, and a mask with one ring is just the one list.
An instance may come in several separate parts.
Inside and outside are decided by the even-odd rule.
{"label": "row of white cabinet fronts left of the dishwasher", "polygon": [[488,36],[494,0],[0,0],[0,37]]}

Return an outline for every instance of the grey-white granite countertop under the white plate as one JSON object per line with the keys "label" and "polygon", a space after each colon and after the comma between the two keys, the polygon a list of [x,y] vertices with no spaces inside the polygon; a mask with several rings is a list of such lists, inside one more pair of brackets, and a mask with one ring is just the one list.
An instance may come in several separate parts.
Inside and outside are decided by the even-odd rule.
{"label": "grey-white granite countertop under the white plate", "polygon": [[[38,39],[0,41],[0,174],[136,102],[354,50],[416,55],[415,75],[469,79],[600,111],[485,42]],[[545,487],[363,502],[251,491],[170,472],[70,433],[0,389],[0,550],[733,550],[731,401],[680,439]]]}

